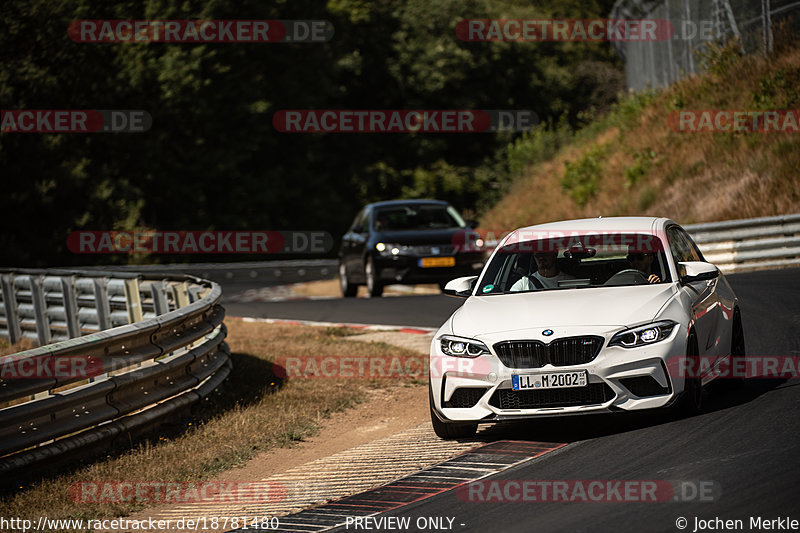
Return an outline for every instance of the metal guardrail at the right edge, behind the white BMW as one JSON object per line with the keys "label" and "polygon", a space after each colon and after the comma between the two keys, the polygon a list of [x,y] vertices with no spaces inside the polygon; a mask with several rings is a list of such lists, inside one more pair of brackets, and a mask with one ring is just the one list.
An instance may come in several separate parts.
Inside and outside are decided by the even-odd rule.
{"label": "metal guardrail at the right edge, behind the white BMW", "polygon": [[684,226],[723,272],[800,265],[800,214]]}

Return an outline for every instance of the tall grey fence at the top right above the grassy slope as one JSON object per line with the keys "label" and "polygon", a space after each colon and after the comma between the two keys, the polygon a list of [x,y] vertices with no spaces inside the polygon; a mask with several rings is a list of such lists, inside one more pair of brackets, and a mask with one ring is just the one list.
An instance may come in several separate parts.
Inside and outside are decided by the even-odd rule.
{"label": "tall grey fence at the top right above the grassy slope", "polygon": [[712,43],[736,39],[743,53],[768,55],[775,30],[800,32],[797,0],[618,0],[612,19],[667,20],[665,40],[618,41],[629,89],[666,87],[702,69],[699,55]]}

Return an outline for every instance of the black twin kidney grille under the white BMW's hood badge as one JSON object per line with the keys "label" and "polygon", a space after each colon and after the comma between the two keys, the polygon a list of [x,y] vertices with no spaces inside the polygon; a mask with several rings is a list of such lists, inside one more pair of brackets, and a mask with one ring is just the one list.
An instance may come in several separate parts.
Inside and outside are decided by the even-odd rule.
{"label": "black twin kidney grille under the white BMW's hood badge", "polygon": [[592,361],[600,348],[603,337],[566,337],[550,344],[541,341],[503,341],[494,345],[497,356],[508,368],[541,368],[553,366],[582,365]]}

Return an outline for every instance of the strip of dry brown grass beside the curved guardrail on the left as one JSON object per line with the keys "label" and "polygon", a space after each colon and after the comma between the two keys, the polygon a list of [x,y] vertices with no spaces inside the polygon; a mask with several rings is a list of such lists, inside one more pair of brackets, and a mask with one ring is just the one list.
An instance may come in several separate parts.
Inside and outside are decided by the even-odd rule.
{"label": "strip of dry brown grass beside the curved guardrail on the left", "polygon": [[288,447],[314,434],[332,412],[366,396],[369,387],[397,380],[310,379],[281,381],[272,361],[281,356],[413,356],[383,343],[354,342],[346,328],[247,323],[226,320],[234,370],[228,383],[191,419],[129,451],[88,462],[71,472],[21,484],[0,500],[0,516],[101,518],[140,507],[73,502],[68,490],[80,481],[186,482],[213,478],[257,453]]}

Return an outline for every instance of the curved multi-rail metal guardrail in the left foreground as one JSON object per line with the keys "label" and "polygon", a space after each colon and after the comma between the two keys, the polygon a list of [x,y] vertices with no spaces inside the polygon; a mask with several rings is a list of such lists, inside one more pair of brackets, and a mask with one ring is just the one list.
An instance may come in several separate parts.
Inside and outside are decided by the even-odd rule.
{"label": "curved multi-rail metal guardrail in the left foreground", "polygon": [[[0,473],[144,430],[208,396],[232,368],[221,296],[191,276],[0,271],[0,337],[41,345],[0,357]],[[81,371],[57,370],[75,362]]]}

